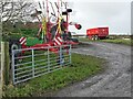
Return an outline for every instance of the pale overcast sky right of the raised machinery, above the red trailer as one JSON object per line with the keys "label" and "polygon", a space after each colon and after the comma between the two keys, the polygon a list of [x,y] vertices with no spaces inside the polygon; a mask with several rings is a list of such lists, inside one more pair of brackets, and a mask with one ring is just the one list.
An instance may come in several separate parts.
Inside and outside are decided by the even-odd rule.
{"label": "pale overcast sky right of the raised machinery, above the red trailer", "polygon": [[[71,0],[73,1],[73,0]],[[85,33],[86,29],[109,26],[110,34],[131,34],[131,2],[130,0],[115,1],[73,1],[71,20],[82,24],[82,30],[71,31]]]}

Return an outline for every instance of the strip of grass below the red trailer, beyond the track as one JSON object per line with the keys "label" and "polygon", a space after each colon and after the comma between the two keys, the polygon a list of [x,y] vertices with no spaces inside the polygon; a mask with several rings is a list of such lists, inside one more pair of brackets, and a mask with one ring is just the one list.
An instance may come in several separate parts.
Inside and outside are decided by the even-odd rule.
{"label": "strip of grass below the red trailer, beyond the track", "polygon": [[132,45],[133,46],[133,40],[122,40],[122,38],[114,38],[114,40],[98,40],[98,41],[91,41],[89,38],[80,38],[81,42],[106,42],[106,43],[114,43],[114,44],[124,44],[124,45]]}

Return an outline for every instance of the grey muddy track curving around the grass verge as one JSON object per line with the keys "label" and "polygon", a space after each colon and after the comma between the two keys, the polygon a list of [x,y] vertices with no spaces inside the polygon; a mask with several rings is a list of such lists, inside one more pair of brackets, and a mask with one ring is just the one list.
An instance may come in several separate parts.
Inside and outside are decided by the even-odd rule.
{"label": "grey muddy track curving around the grass verge", "polygon": [[54,97],[131,97],[130,46],[90,42],[72,52],[105,58],[108,69],[60,90]]}

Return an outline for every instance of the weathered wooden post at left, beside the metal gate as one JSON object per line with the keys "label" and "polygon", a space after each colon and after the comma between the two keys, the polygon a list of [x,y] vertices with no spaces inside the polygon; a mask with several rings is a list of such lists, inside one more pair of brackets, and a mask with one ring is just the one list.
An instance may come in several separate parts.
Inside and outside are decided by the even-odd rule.
{"label": "weathered wooden post at left, beside the metal gate", "polygon": [[2,87],[9,84],[10,75],[10,58],[9,58],[9,43],[1,43],[1,84]]}

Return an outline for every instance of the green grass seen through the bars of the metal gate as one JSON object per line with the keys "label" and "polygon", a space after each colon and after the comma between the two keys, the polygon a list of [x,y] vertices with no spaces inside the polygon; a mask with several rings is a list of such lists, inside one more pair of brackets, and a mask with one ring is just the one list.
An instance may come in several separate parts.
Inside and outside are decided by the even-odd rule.
{"label": "green grass seen through the bars of the metal gate", "polygon": [[[44,51],[38,51],[38,50],[34,51],[34,55],[35,55],[34,56],[34,76],[37,76],[40,73],[48,72],[48,67],[47,67],[48,55],[44,55],[44,54],[47,54],[47,52],[44,52]],[[29,55],[32,55],[31,51],[25,52],[23,56],[29,56]],[[63,54],[63,55],[65,55],[65,54]],[[54,64],[57,64],[58,56],[54,53],[50,52],[50,57],[52,57],[52,59],[55,58],[54,61],[51,61],[52,66],[50,66],[50,68],[52,70],[55,67]],[[68,59],[65,57],[65,62]],[[23,65],[22,63],[23,64],[29,63],[29,64]],[[32,57],[24,57],[22,59],[22,62],[17,62],[16,64],[19,64],[19,66],[16,67],[16,69],[18,69],[16,72],[17,73],[16,77],[18,78],[18,79],[16,79],[16,81],[24,79],[24,77],[22,77],[24,75],[29,75],[29,76],[27,76],[27,78],[32,77],[32,67],[31,67],[32,66]],[[29,68],[27,68],[27,67],[29,67]],[[58,67],[60,67],[60,65]]]}

